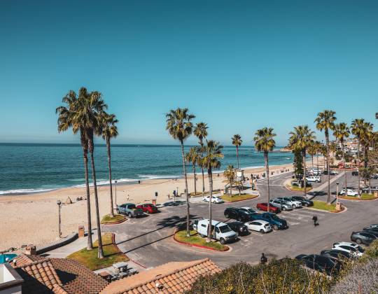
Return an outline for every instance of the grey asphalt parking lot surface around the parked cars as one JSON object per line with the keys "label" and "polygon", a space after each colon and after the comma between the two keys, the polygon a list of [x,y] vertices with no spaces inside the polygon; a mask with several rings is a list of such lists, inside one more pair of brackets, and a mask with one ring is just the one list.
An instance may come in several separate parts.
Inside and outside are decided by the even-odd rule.
{"label": "grey asphalt parking lot surface around the parked cars", "polygon": [[[271,197],[302,195],[300,192],[287,190],[283,182],[290,175],[283,174],[270,179]],[[314,190],[320,190],[314,200],[326,200],[327,187],[324,185],[327,176],[322,176],[322,183],[316,183]],[[337,178],[335,178],[337,177]],[[340,190],[344,186],[344,174],[331,176],[331,192],[335,193],[336,181],[340,183]],[[348,186],[357,187],[357,177],[347,174]],[[372,181],[377,185],[378,181]],[[226,207],[255,207],[258,202],[267,201],[266,182],[258,183],[260,197],[254,200],[236,202],[234,204],[213,204],[213,218],[218,221],[228,221],[223,215]],[[332,195],[332,200],[335,197]],[[208,204],[200,202],[190,204],[192,218],[207,218]],[[144,267],[155,267],[169,261],[187,261],[201,258],[211,258],[220,267],[227,267],[238,261],[257,263],[262,252],[267,258],[295,257],[301,253],[319,253],[323,249],[330,248],[336,241],[349,241],[353,230],[360,230],[370,223],[378,223],[378,201],[348,201],[340,200],[347,211],[332,214],[312,209],[295,209],[284,211],[280,217],[288,221],[288,230],[272,231],[262,235],[259,232],[251,232],[250,235],[240,237],[232,244],[227,252],[209,251],[177,244],[172,236],[174,228],[179,223],[186,221],[186,204],[174,207],[164,207],[159,214],[144,218],[132,218],[131,220],[111,227],[103,227],[104,232],[115,232],[116,242],[121,251],[132,260]],[[317,227],[314,227],[311,218],[318,216]]]}

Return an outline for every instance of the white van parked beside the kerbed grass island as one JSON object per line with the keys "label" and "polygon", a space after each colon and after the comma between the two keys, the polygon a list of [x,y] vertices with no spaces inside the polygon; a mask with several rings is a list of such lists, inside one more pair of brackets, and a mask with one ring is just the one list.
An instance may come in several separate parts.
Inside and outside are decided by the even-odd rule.
{"label": "white van parked beside the kerbed grass island", "polygon": [[[202,237],[207,236],[207,228],[209,226],[209,219],[203,219],[195,222],[198,234]],[[213,230],[213,239],[216,239],[221,242],[221,244],[225,244],[229,241],[235,240],[237,237],[237,233],[231,230],[227,223],[222,223],[221,221],[211,221],[211,227]]]}

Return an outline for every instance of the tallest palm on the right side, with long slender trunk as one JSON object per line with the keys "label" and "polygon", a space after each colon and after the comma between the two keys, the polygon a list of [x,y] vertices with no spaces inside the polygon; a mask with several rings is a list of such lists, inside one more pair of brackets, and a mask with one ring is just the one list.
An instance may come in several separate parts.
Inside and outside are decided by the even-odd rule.
{"label": "tallest palm on the right side, with long slender trunk", "polygon": [[328,197],[327,202],[330,203],[330,134],[329,130],[333,130],[335,127],[335,111],[325,110],[319,112],[317,118],[315,118],[316,129],[324,131],[325,144],[327,146],[327,172],[328,172]]}

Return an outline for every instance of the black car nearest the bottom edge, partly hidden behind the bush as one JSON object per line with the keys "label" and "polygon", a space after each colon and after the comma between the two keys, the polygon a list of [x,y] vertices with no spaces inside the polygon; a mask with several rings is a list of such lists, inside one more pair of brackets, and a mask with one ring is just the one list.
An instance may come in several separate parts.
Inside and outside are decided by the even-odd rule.
{"label": "black car nearest the bottom edge, partly hidden behind the bush", "polygon": [[325,255],[310,254],[310,255],[297,255],[296,260],[300,260],[309,267],[315,269],[318,272],[323,272],[331,276],[337,274],[341,268],[341,262],[338,262],[335,258],[330,258]]}

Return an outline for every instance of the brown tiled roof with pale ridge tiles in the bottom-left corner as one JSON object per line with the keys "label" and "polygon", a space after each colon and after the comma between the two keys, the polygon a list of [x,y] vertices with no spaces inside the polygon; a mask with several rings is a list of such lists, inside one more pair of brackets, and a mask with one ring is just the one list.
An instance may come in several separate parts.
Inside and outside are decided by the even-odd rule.
{"label": "brown tiled roof with pale ridge tiles in the bottom-left corner", "polygon": [[21,254],[15,258],[25,293],[99,293],[108,282],[76,260]]}

